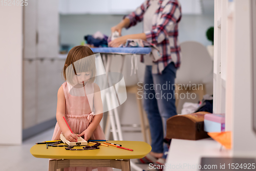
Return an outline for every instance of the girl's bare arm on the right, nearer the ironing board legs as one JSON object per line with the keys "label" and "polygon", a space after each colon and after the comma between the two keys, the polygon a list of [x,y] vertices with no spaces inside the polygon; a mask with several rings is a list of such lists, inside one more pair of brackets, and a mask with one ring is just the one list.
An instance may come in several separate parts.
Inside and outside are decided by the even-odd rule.
{"label": "girl's bare arm on the right, nearer the ironing board legs", "polygon": [[95,116],[93,117],[92,122],[89,124],[86,130],[84,130],[81,134],[78,136],[84,135],[84,140],[88,141],[96,127],[99,125],[102,116],[103,116],[103,104],[101,100],[101,95],[100,95],[100,89],[99,86],[94,83],[94,98],[93,98],[93,105],[94,105],[94,113]]}

